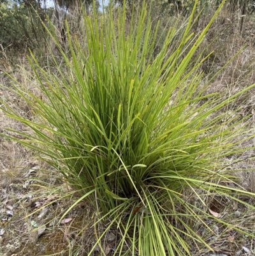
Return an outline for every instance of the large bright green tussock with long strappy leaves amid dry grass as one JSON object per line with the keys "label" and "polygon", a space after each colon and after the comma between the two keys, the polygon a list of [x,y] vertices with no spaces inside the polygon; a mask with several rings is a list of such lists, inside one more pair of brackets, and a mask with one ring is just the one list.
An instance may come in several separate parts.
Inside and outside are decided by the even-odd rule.
{"label": "large bright green tussock with long strappy leaves amid dry grass", "polygon": [[[95,227],[106,225],[97,243],[117,230],[113,255],[190,255],[187,237],[210,250],[195,229],[200,223],[213,232],[208,218],[245,232],[211,215],[204,202],[204,195],[214,193],[230,199],[252,195],[231,183],[226,172],[224,157],[246,149],[238,147],[245,120],[224,109],[253,86],[230,98],[206,94],[208,84],[203,86],[199,72],[203,61],[199,55],[194,60],[223,4],[198,35],[191,32],[194,6],[185,29],[170,27],[156,56],[157,26],[152,29],[145,3],[129,19],[125,8],[114,15],[111,8],[99,16],[84,14],[82,41],[66,24],[68,53],[52,26],[48,33],[62,63],[55,60],[53,71],[41,68],[31,54],[33,72],[27,79],[40,96],[22,84],[13,89],[34,117],[25,119],[5,105],[8,116],[33,130],[20,132],[26,139],[16,140],[59,170],[80,194],[72,207],[81,200],[94,204]],[[189,200],[194,195],[196,203]]]}

